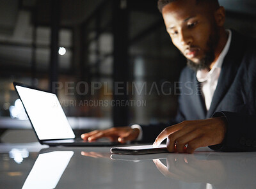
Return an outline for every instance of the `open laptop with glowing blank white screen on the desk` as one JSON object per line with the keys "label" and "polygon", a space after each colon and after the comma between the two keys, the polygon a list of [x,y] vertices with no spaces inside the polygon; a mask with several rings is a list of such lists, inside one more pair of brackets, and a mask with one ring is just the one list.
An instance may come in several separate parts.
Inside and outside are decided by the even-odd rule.
{"label": "open laptop with glowing blank white screen on the desk", "polygon": [[115,146],[118,142],[76,139],[54,93],[13,82],[40,144],[49,146]]}

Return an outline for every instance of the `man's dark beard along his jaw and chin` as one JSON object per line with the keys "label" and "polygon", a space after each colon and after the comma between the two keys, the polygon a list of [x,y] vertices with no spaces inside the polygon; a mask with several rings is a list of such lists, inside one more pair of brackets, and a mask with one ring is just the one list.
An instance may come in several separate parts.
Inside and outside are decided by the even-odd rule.
{"label": "man's dark beard along his jaw and chin", "polygon": [[187,65],[195,71],[203,69],[211,70],[210,66],[215,59],[214,52],[219,40],[220,36],[218,35],[218,32],[212,32],[207,40],[207,51],[205,52],[205,56],[200,59],[198,63],[194,63],[193,61],[187,59]]}

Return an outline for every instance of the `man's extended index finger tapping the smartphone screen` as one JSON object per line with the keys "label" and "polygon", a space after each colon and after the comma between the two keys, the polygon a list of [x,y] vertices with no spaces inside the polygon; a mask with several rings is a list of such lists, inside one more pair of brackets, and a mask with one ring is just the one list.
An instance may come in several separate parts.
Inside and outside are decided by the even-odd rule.
{"label": "man's extended index finger tapping the smartphone screen", "polygon": [[163,132],[161,132],[157,137],[156,140],[153,144],[154,147],[157,147],[161,144],[161,142],[163,142],[164,139],[166,139],[168,137],[168,135],[177,132],[178,130],[180,130],[183,127],[182,123],[179,123],[177,125],[173,125],[173,126],[169,126],[167,128],[165,128],[163,130]]}

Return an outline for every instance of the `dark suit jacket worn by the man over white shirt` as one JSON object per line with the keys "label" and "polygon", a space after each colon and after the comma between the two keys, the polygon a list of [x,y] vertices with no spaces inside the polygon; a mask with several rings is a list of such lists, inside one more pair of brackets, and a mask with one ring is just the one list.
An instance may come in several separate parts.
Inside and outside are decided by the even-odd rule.
{"label": "dark suit jacket worn by the man over white shirt", "polygon": [[255,41],[232,31],[232,40],[221,67],[220,78],[207,111],[195,71],[186,67],[180,75],[179,109],[166,124],[141,126],[143,140],[152,142],[166,127],[184,120],[214,116],[227,118],[221,151],[256,151],[256,48]]}

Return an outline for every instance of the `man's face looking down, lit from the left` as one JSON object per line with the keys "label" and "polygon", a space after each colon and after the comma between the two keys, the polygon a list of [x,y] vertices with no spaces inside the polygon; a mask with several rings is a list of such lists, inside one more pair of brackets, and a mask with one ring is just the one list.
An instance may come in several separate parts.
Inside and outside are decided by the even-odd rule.
{"label": "man's face looking down, lit from the left", "polygon": [[162,13],[173,44],[188,59],[189,66],[209,69],[220,38],[213,11],[196,4],[196,0],[180,0],[164,6]]}

